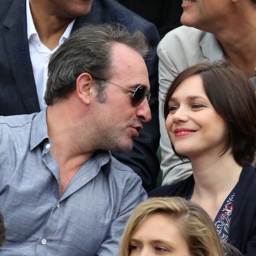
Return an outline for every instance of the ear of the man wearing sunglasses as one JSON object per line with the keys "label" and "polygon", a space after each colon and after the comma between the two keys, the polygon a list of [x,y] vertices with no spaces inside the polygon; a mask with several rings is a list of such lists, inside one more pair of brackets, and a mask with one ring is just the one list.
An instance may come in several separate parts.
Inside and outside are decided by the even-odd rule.
{"label": "ear of the man wearing sunglasses", "polygon": [[88,73],[82,73],[76,79],[76,93],[81,101],[85,104],[90,104],[93,94],[94,79]]}

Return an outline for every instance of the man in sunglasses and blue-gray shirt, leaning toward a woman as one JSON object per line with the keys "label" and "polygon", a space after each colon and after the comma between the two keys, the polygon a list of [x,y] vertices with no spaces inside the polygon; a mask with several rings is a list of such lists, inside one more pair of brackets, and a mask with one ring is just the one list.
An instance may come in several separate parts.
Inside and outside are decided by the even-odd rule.
{"label": "man in sunglasses and blue-gray shirt, leaning toward a woman", "polygon": [[110,151],[131,151],[151,120],[139,31],[85,26],[49,60],[48,107],[0,117],[2,256],[117,255],[147,194]]}

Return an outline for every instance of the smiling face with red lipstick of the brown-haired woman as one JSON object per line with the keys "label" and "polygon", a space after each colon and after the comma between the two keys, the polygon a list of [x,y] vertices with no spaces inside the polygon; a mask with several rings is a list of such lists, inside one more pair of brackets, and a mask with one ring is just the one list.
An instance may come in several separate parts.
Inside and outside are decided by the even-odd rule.
{"label": "smiling face with red lipstick of the brown-haired woman", "polygon": [[225,147],[226,122],[205,94],[200,75],[181,82],[168,107],[166,128],[178,154],[192,159]]}

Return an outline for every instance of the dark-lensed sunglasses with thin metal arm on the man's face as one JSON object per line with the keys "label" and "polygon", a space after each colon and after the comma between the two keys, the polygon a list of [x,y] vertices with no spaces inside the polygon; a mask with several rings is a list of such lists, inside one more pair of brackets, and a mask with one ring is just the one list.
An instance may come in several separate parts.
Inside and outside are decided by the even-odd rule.
{"label": "dark-lensed sunglasses with thin metal arm on the man's face", "polygon": [[[94,78],[95,79],[103,80],[105,82],[113,83],[113,82],[111,82],[111,81],[109,81],[107,79],[98,78],[98,77],[94,77]],[[149,90],[147,90],[147,87],[145,87],[143,85],[139,85],[135,90],[132,90],[132,89],[129,89],[127,87],[121,86],[121,85],[119,85],[117,83],[113,83],[113,84],[133,92],[133,94],[132,94],[132,106],[134,106],[134,107],[136,107],[139,104],[141,104],[145,98],[147,98],[148,102],[150,100],[151,93],[150,93]]]}

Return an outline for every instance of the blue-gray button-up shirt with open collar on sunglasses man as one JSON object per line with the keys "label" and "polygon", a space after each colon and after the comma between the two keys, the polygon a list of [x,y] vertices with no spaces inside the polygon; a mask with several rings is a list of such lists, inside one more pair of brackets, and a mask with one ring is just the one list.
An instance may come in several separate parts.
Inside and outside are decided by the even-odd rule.
{"label": "blue-gray button-up shirt with open collar on sunglasses man", "polygon": [[117,255],[125,222],[146,200],[139,176],[98,151],[60,196],[46,109],[0,117],[0,211],[7,241],[2,256]]}

